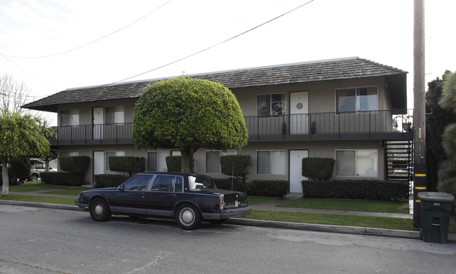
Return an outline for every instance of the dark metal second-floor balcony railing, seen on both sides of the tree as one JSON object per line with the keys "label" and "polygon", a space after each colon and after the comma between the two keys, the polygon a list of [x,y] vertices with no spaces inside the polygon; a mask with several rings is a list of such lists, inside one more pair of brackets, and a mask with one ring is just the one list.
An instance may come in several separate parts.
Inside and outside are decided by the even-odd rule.
{"label": "dark metal second-floor balcony railing, seen on both sides of the tree", "polygon": [[[413,110],[245,116],[249,142],[413,139]],[[133,123],[59,126],[53,145],[133,144]]]}

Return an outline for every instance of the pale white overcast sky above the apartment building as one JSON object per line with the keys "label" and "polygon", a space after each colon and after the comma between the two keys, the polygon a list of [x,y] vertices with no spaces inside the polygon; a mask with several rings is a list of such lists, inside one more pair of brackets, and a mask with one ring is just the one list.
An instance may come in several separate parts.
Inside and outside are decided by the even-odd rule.
{"label": "pale white overcast sky above the apartment building", "polygon": [[[456,1],[425,1],[426,83],[456,71]],[[452,27],[451,27],[452,26]],[[408,71],[413,0],[0,0],[0,75],[67,88],[358,56]],[[56,125],[57,116],[43,113]]]}

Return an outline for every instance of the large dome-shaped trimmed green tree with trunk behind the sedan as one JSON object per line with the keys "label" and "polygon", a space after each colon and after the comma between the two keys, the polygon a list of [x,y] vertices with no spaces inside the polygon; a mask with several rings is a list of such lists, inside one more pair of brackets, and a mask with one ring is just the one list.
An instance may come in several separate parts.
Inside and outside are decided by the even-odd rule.
{"label": "large dome-shaped trimmed green tree with trunk behind the sedan", "polygon": [[224,85],[188,76],[149,85],[135,107],[133,142],[138,149],[179,149],[190,172],[200,148],[241,149],[247,128],[241,107]]}

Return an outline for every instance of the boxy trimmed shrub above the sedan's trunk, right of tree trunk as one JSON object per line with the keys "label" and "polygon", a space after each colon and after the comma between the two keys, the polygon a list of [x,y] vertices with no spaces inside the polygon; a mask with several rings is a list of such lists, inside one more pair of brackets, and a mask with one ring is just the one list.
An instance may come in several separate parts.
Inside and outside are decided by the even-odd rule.
{"label": "boxy trimmed shrub above the sedan's trunk, right of tree trunk", "polygon": [[248,155],[226,155],[220,157],[220,167],[222,174],[236,177],[246,182],[247,175],[250,174],[247,168],[250,165],[250,156]]}

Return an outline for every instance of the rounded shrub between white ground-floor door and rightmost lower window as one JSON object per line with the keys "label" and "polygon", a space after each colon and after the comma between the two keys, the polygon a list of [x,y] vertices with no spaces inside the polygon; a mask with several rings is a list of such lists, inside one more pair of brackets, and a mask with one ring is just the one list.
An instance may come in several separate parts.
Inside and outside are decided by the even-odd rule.
{"label": "rounded shrub between white ground-floor door and rightmost lower window", "polygon": [[333,175],[333,158],[302,158],[302,176],[314,181],[328,181]]}

